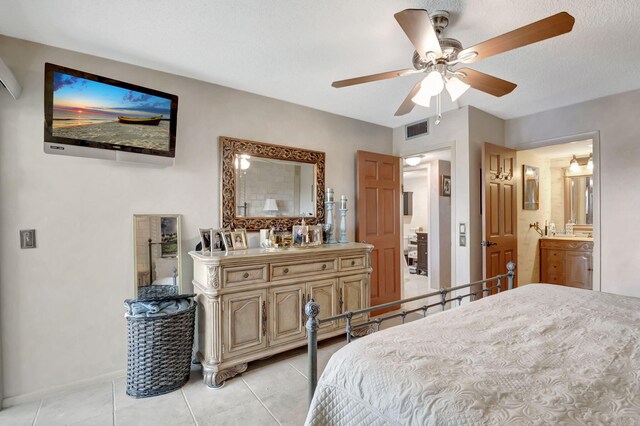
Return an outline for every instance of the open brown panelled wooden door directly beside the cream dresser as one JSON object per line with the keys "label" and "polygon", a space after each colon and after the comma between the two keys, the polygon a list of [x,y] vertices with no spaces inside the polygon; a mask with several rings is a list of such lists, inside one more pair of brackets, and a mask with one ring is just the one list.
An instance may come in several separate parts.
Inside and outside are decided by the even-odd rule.
{"label": "open brown panelled wooden door directly beside the cream dresser", "polygon": [[356,240],[373,245],[371,306],[400,300],[400,164],[399,157],[357,153]]}

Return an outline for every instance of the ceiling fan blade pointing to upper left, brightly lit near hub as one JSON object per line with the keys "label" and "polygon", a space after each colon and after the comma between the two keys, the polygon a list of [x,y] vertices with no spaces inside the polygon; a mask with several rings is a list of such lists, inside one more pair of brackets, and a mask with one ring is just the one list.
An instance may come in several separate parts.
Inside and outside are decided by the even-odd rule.
{"label": "ceiling fan blade pointing to upper left, brightly lit near hub", "polygon": [[431,24],[429,12],[424,9],[405,9],[393,16],[421,58],[425,59],[427,52],[435,53],[436,59],[442,56],[440,42]]}

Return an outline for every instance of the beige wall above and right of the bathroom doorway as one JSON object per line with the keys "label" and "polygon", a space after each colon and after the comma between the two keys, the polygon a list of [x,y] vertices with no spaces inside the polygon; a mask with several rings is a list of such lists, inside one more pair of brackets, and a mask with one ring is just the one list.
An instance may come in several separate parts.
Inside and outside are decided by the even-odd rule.
{"label": "beige wall above and right of the bathroom doorway", "polygon": [[593,158],[600,172],[600,212],[594,213],[594,253],[601,253],[601,267],[594,264],[594,277],[601,277],[602,291],[629,296],[640,296],[640,253],[635,247],[640,240],[640,191],[632,189],[640,163],[638,105],[640,90],[634,90],[506,122],[510,147],[596,136]]}

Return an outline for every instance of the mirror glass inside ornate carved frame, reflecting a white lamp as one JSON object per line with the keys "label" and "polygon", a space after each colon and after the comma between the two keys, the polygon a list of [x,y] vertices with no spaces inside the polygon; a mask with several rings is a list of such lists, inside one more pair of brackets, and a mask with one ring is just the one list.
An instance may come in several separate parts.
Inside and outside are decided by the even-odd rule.
{"label": "mirror glass inside ornate carved frame, reflecting a white lamp", "polygon": [[314,217],[315,165],[235,155],[237,217]]}

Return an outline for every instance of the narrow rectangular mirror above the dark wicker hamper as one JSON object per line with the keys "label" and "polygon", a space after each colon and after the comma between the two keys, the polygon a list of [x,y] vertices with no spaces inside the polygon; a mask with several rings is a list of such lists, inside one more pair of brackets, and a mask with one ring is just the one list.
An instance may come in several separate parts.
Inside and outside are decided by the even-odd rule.
{"label": "narrow rectangular mirror above the dark wicker hamper", "polygon": [[133,216],[135,297],[179,294],[180,215]]}

